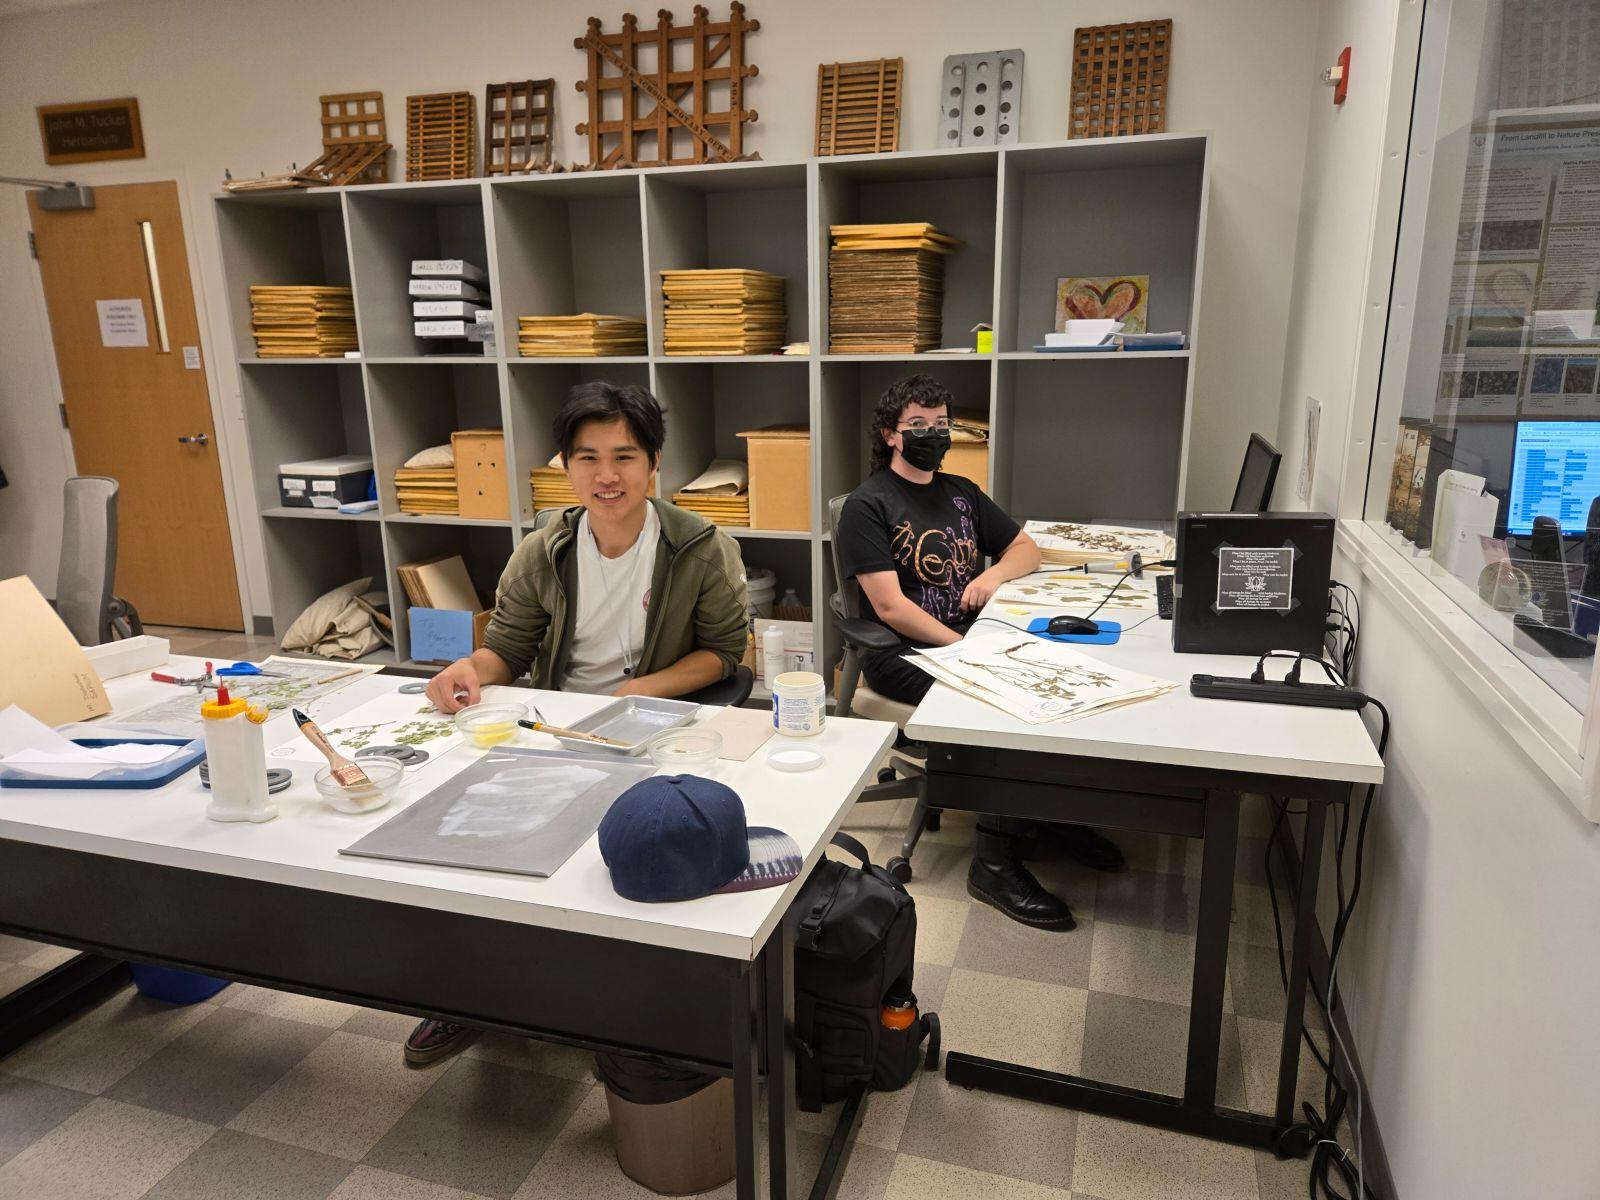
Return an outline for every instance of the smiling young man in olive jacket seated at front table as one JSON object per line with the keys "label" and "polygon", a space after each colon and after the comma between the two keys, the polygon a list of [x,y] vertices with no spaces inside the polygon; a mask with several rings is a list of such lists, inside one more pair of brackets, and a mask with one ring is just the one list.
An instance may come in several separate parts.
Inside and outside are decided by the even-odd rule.
{"label": "smiling young man in olive jacket seated at front table", "polygon": [[[664,438],[661,405],[643,387],[571,390],[555,443],[582,507],[512,554],[483,646],[427,685],[440,712],[530,672],[536,688],[611,696],[686,696],[733,674],[749,630],[744,563],[726,533],[648,498]],[[467,1034],[424,1021],[406,1061],[438,1061]]]}

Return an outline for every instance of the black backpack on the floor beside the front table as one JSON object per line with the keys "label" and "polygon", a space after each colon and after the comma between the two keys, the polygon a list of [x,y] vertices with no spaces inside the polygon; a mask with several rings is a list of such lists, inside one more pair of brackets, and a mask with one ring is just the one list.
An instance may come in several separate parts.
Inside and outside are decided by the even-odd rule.
{"label": "black backpack on the floor beside the front table", "polygon": [[800,1107],[816,1112],[856,1085],[880,1091],[906,1086],[917,1072],[922,1042],[926,1066],[939,1066],[939,1018],[922,1013],[907,1029],[883,1026],[883,1005],[917,1003],[917,904],[866,846],[848,834],[834,845],[859,867],[822,859],[795,898],[795,1074]]}

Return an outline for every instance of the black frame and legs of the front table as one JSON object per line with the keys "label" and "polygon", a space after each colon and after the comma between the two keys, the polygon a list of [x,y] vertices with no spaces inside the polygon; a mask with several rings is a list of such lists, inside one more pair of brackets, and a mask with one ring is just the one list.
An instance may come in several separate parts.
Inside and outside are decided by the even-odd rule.
{"label": "black frame and legs of the front table", "polygon": [[[736,1192],[760,1195],[766,1070],[773,1200],[795,1182],[794,931],[754,963],[392,901],[0,838],[0,931],[86,950],[0,1000],[0,1054],[82,1006],[122,960],[434,1016],[731,1077]],[[848,1102],[811,1197],[843,1178]]]}

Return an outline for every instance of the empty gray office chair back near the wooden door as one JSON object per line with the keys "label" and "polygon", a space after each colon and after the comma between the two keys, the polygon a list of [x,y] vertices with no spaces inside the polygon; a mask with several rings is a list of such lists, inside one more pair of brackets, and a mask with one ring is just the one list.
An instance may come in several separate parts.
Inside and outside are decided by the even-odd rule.
{"label": "empty gray office chair back near the wooden door", "polygon": [[112,595],[117,582],[117,480],[74,475],[62,499],[56,613],[80,646],[142,634],[139,610]]}

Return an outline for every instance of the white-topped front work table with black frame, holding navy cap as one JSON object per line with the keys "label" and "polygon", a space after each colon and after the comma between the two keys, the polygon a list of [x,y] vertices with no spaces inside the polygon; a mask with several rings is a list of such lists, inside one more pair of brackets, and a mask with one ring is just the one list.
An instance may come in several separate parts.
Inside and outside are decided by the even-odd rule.
{"label": "white-topped front work table with black frame, holding navy cap", "polygon": [[[178,656],[170,666],[179,675],[203,669]],[[306,707],[331,725],[406,682],[368,675]],[[107,691],[110,720],[174,694],[144,674]],[[525,696],[554,723],[606,702]],[[678,904],[618,896],[597,837],[549,878],[339,854],[482,754],[466,746],[408,770],[389,806],[358,816],[323,805],[314,768],[301,763],[288,763],[294,779],[272,797],[278,818],[264,824],[210,821],[197,771],[152,790],[0,789],[0,930],[731,1075],[741,1197],[757,1194],[765,1037],[768,1062],[776,1058],[771,1195],[792,1195],[794,1088],[778,1082],[792,1062],[794,942],[782,917],[893,734],[882,722],[829,720],[806,739],[824,765],[803,774],[766,766],[774,742],[749,762],[720,762],[717,778],[739,792],[749,822],[794,837],[806,870],[784,886]],[[270,757],[275,746],[299,738],[291,717],[274,717],[269,765],[283,765]],[[528,731],[515,744],[555,747]]]}

